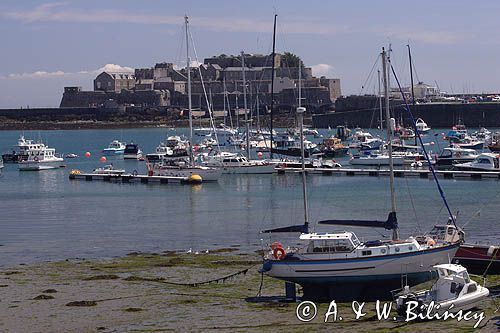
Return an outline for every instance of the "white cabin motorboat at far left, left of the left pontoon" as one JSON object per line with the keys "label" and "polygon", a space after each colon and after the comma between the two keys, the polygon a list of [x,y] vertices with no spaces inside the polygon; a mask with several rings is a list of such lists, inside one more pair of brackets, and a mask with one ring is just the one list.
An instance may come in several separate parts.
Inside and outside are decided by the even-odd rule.
{"label": "white cabin motorboat at far left, left of the left pontoon", "polygon": [[41,142],[30,142],[26,154],[18,160],[20,171],[40,171],[64,167],[64,159],[56,154],[56,150]]}

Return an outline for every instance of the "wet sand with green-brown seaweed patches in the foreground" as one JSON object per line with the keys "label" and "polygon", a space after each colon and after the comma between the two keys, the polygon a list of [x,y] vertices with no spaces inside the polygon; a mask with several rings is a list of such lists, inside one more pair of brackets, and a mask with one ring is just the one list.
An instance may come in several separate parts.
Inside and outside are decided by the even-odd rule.
{"label": "wet sand with green-brown seaweed patches in the foreground", "polygon": [[[328,304],[311,322],[296,318],[297,303],[250,303],[261,275],[257,254],[234,248],[211,253],[131,253],[108,260],[66,260],[0,271],[1,332],[471,332],[475,321],[378,321],[375,305],[355,320],[339,304],[342,321],[324,322]],[[248,270],[247,270],[248,269]],[[246,273],[246,274],[245,274]],[[232,276],[235,274],[234,276]],[[232,276],[225,281],[193,285]],[[184,285],[185,284],[185,285]],[[488,285],[500,284],[500,277]],[[264,277],[262,296],[282,296],[283,283]],[[498,301],[497,301],[498,302]],[[500,305],[500,304],[499,304]],[[497,332],[493,299],[482,304],[480,332]]]}

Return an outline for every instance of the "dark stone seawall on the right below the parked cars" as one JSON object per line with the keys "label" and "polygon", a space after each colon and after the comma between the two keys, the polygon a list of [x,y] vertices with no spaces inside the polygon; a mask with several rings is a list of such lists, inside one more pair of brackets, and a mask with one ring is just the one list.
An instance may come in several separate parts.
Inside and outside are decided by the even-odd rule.
{"label": "dark stone seawall on the right below the parked cars", "polygon": [[[391,105],[394,118],[405,125],[410,124],[409,116],[401,104]],[[460,120],[468,127],[500,127],[500,103],[429,103],[411,107],[415,118],[422,118],[430,127],[451,127]],[[376,128],[379,125],[378,105],[361,110],[333,112],[313,115],[316,128],[334,128],[338,125],[349,127]]]}

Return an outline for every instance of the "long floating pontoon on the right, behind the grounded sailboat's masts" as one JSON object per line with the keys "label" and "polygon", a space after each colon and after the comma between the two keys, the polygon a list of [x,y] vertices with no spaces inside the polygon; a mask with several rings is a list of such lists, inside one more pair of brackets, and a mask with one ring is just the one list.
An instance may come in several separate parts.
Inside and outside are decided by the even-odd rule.
{"label": "long floating pontoon on the right, behind the grounded sailboat's masts", "polygon": [[[301,168],[276,168],[278,174],[298,173]],[[458,171],[458,170],[436,170],[436,175],[444,179],[500,179],[498,171]],[[389,176],[390,172],[387,169],[376,168],[314,168],[306,169],[308,174],[320,175],[336,175],[336,176]],[[394,170],[394,177],[414,177],[414,178],[430,178],[432,172],[428,169],[397,169]]]}

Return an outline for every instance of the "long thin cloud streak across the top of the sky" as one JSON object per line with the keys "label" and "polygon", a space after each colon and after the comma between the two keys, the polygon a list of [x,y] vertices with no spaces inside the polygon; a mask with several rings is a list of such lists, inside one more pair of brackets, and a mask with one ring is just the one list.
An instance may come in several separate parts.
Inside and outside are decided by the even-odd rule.
{"label": "long thin cloud streak across the top of the sky", "polygon": [[[181,16],[137,14],[117,10],[84,11],[71,9],[66,3],[46,3],[24,11],[6,11],[1,16],[26,23],[33,22],[83,22],[83,23],[133,23],[146,25],[175,25],[184,21]],[[190,24],[205,29],[223,32],[272,31],[271,21],[246,17],[190,17]],[[292,34],[337,34],[349,30],[347,26],[336,26],[319,19],[290,18],[280,22],[282,33]],[[171,30],[169,30],[171,32]]]}

